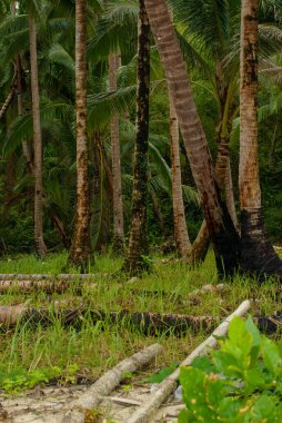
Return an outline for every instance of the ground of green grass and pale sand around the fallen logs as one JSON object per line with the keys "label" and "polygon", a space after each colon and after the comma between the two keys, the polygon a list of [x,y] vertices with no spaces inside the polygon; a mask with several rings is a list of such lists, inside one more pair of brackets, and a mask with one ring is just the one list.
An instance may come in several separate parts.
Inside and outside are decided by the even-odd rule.
{"label": "ground of green grass and pale sand around the fallen logs", "polygon": [[[0,273],[56,277],[66,259],[64,254],[50,255],[44,262],[32,256],[10,257],[0,260]],[[173,370],[212,332],[212,328],[200,327],[178,334],[169,327],[152,333],[150,328],[133,325],[127,316],[114,323],[107,318],[110,312],[174,313],[220,321],[246,298],[252,301],[253,316],[282,312],[281,287],[274,281],[259,286],[255,281],[238,276],[232,283],[226,282],[228,289],[191,297],[201,286],[218,283],[212,254],[197,268],[179,260],[163,263],[162,257],[154,256],[150,274],[129,281],[114,276],[121,263],[121,259],[97,257],[95,267],[90,269],[95,274],[89,281],[92,286],[89,288],[85,283],[79,294],[74,279],[62,294],[24,294],[13,289],[0,295],[0,306],[20,304],[50,312],[56,307],[80,309],[83,306],[104,316],[93,323],[90,315],[83,314],[79,328],[63,324],[56,313],[49,325],[20,322],[12,328],[0,327],[0,422],[1,411],[2,421],[32,422],[33,415],[34,422],[54,422],[54,417],[46,420],[48,413],[68,406],[71,399],[121,360],[159,342],[164,347],[155,361],[134,375],[125,374],[120,387],[112,393],[113,397],[122,397],[123,404],[113,399],[101,405],[104,421],[125,422],[127,413],[130,415],[132,407],[149,397],[154,383],[161,380],[162,375],[155,374]],[[129,399],[131,405],[124,399]],[[167,405],[157,421],[173,421],[178,407],[173,400],[173,410]]]}

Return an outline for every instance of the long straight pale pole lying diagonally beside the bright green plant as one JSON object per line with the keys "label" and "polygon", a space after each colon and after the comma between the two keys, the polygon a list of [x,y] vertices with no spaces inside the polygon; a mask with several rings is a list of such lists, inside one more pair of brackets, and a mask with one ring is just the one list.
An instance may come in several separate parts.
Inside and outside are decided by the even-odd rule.
{"label": "long straight pale pole lying diagonally beside the bright green plant", "polygon": [[[229,324],[234,316],[243,316],[250,308],[250,302],[243,302],[240,307],[232,313],[219,327],[212,333],[212,335],[199,345],[182,363],[181,366],[189,366],[195,357],[205,355],[211,348],[214,348],[218,344],[216,337],[224,336],[228,333]],[[151,400],[144,403],[141,407],[132,414],[128,423],[148,423],[151,422],[151,417],[157,413],[161,404],[169,399],[171,393],[178,387],[178,380],[180,375],[180,368],[177,368],[169,377],[160,383],[159,388],[152,394]]]}

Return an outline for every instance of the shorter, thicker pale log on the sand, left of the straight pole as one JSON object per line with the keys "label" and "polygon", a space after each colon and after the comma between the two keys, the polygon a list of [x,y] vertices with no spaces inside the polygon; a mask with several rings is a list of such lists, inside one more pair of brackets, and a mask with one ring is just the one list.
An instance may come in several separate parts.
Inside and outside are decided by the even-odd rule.
{"label": "shorter, thicker pale log on the sand, left of the straight pole", "polygon": [[162,351],[160,344],[153,344],[148,348],[123,360],[117,366],[101,376],[84,394],[81,395],[62,417],[63,423],[79,423],[87,421],[91,411],[95,409],[124,378],[124,374],[133,373],[157,357]]}

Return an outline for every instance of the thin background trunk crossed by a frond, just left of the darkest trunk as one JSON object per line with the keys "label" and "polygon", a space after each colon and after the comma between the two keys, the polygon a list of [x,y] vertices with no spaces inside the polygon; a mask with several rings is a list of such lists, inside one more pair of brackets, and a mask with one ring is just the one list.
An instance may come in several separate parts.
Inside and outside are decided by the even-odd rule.
{"label": "thin background trunk crossed by a frond, just left of the darkest trunk", "polygon": [[[109,57],[109,86],[110,90],[117,89],[117,70],[120,68],[120,56]],[[124,253],[124,232],[123,232],[123,204],[121,185],[121,160],[120,160],[120,137],[119,117],[111,117],[111,146],[112,146],[112,178],[113,178],[113,252]]]}

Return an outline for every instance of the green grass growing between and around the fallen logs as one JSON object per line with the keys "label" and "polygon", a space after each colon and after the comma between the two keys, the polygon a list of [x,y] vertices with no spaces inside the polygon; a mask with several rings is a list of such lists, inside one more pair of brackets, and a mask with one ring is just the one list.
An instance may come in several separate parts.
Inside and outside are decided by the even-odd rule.
{"label": "green grass growing between and around the fallen logs", "polygon": [[[0,273],[60,273],[66,263],[64,254],[50,255],[44,262],[32,256],[21,256],[9,262],[0,262]],[[26,304],[30,307],[71,308],[83,303],[91,309],[104,312],[128,309],[132,312],[180,313],[195,316],[209,315],[223,318],[245,298],[253,299],[253,314],[271,314],[281,309],[275,298],[279,286],[268,282],[259,286],[248,278],[236,277],[230,283],[230,291],[209,293],[191,304],[189,293],[204,285],[216,283],[216,272],[212,254],[198,268],[191,269],[181,262],[162,264],[154,257],[153,272],[133,283],[104,278],[103,273],[112,274],[121,266],[120,259],[98,257],[92,272],[95,288],[85,288],[82,296],[73,293],[73,286],[62,295],[13,292],[0,296],[0,305]],[[73,285],[75,281],[73,281]],[[150,295],[152,292],[152,295]],[[61,383],[75,382],[77,377],[93,381],[120,360],[138,350],[160,342],[164,345],[162,355],[152,363],[150,372],[159,367],[181,362],[199,343],[207,337],[202,331],[191,331],[177,337],[174,334],[147,336],[124,319],[121,325],[104,321],[93,324],[84,318],[80,331],[63,327],[54,317],[49,327],[30,327],[19,324],[14,331],[0,333],[0,388],[17,392],[31,387],[38,382],[60,378]],[[149,372],[149,373],[150,373]]]}

